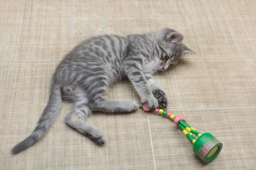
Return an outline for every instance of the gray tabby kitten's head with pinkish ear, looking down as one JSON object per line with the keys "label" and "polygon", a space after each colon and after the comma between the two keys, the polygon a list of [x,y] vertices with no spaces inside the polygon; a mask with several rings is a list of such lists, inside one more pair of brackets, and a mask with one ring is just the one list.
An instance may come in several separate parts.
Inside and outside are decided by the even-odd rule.
{"label": "gray tabby kitten's head with pinkish ear, looking down", "polygon": [[156,69],[166,71],[169,66],[174,66],[185,54],[196,54],[185,44],[183,35],[171,28],[163,28],[155,33],[157,46],[154,50]]}

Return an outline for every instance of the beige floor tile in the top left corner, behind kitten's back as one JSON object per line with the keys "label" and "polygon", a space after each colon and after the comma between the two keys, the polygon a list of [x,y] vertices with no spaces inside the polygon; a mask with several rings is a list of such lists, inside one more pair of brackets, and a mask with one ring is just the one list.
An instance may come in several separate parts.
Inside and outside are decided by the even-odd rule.
{"label": "beige floor tile in the top left corner, behind kitten's back", "polygon": [[69,4],[36,2],[17,3],[24,9],[14,6],[10,15],[1,17],[0,60],[61,59],[70,50]]}

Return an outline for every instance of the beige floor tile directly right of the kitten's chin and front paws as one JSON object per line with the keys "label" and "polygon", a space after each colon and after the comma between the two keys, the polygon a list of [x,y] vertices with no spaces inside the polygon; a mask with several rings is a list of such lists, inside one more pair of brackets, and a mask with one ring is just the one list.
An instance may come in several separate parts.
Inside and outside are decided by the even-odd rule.
{"label": "beige floor tile directly right of the kitten's chin and front paws", "polygon": [[255,106],[255,65],[255,58],[189,57],[155,79],[169,109]]}

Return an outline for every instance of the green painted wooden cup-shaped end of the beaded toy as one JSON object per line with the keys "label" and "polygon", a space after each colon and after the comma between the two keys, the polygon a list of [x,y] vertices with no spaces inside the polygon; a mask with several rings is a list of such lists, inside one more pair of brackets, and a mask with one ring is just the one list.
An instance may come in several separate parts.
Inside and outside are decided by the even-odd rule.
{"label": "green painted wooden cup-shaped end of the beaded toy", "polygon": [[210,163],[221,152],[222,146],[212,134],[204,133],[195,141],[193,151],[202,161]]}

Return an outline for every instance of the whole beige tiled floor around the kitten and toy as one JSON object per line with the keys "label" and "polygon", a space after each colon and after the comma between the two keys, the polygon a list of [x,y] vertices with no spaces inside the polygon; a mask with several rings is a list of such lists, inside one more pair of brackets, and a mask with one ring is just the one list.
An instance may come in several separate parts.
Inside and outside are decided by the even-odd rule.
{"label": "whole beige tiled floor around the kitten and toy", "polygon": [[[0,2],[0,169],[256,169],[256,12],[254,0],[4,0]],[[88,121],[107,138],[98,146],[64,123],[65,102],[38,144],[13,156],[34,129],[51,75],[70,49],[93,34],[174,28],[196,56],[155,76],[168,111],[223,144],[204,164],[168,119],[154,113],[95,113]],[[111,99],[140,99],[125,80]]]}

